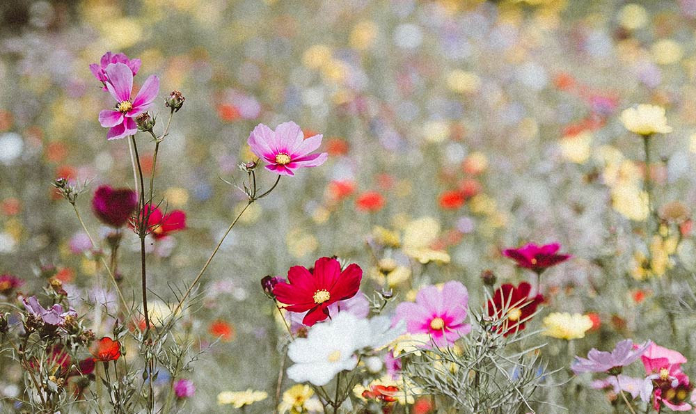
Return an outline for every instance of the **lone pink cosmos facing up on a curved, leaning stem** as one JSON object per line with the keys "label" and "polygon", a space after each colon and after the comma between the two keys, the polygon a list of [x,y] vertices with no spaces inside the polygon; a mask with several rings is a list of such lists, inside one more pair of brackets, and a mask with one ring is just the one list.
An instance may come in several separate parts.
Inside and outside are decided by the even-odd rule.
{"label": "lone pink cosmos facing up on a curved, leaning stem", "polygon": [[322,145],[322,135],[305,139],[294,122],[284,122],[276,131],[259,124],[246,142],[256,157],[268,163],[266,169],[279,175],[295,175],[294,170],[320,166],[329,157],[326,152],[311,153]]}

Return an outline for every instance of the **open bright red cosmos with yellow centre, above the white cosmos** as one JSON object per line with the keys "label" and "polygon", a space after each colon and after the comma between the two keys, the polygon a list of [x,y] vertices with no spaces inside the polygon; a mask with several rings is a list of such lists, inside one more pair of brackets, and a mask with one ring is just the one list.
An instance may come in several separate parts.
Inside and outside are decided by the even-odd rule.
{"label": "open bright red cosmos with yellow centre, above the white cosmos", "polygon": [[329,317],[329,305],[345,301],[358,293],[363,269],[350,264],[344,271],[338,260],[322,257],[310,272],[303,266],[287,271],[288,282],[276,283],[273,294],[290,312],[307,312],[302,323],[312,326]]}

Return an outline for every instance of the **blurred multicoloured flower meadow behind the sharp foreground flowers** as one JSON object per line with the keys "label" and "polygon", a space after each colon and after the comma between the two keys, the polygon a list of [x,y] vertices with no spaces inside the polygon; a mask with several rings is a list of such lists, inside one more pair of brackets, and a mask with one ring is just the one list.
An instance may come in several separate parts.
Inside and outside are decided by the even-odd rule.
{"label": "blurred multicoloured flower meadow behind the sharp foreground flowers", "polygon": [[[112,98],[88,65],[106,51],[142,60],[137,85],[160,77],[157,128],[164,97],[186,97],[155,181],[155,198],[184,210],[188,227],[152,246],[150,283],[164,301],[168,282],[191,280],[244,207],[221,178],[242,178],[253,127],[293,120],[305,136],[324,134],[329,161],[253,205],[203,278],[191,332],[202,349],[223,339],[194,365],[192,409],[223,412],[222,390],[274,388],[262,276],[339,255],[365,269],[364,292],[379,289],[366,245],[374,227],[402,232],[423,217],[424,243],[451,262],[418,269],[399,281],[407,287],[457,279],[481,305],[485,269],[522,278],[502,248],[559,241],[575,258],[545,275],[550,306],[608,319],[621,310],[622,329],[637,329],[624,293],[596,295],[608,276],[633,275],[649,248],[631,237],[644,213],[642,144],[617,116],[628,106],[665,106],[674,127],[655,138],[656,205],[696,198],[693,0],[5,0],[0,11],[0,273],[27,286],[54,266],[77,298],[95,274],[56,177],[89,182],[78,207],[95,234],[93,190],[134,188],[127,141],[106,141],[97,120]],[[149,175],[154,144],[138,139]],[[125,291],[138,292],[139,240],[124,243]],[[685,273],[695,250],[679,246]]]}

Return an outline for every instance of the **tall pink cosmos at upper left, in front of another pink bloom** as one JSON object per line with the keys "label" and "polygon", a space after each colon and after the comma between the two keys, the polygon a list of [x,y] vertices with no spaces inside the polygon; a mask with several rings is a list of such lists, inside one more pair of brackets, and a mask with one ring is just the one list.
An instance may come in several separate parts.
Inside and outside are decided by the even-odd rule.
{"label": "tall pink cosmos at upper left, in front of another pink bloom", "polygon": [[159,78],[154,74],[145,79],[143,87],[133,99],[133,72],[123,63],[111,63],[104,70],[109,81],[106,89],[116,99],[116,109],[104,109],[99,113],[102,127],[109,128],[106,139],[118,139],[138,131],[135,117],[147,111],[159,93]]}

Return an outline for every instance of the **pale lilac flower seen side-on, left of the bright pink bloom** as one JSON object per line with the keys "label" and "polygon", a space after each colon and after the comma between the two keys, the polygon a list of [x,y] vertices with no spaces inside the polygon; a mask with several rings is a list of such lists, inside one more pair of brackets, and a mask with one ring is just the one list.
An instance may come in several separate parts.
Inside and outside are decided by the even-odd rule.
{"label": "pale lilac flower seen side-on, left of the bright pink bloom", "polygon": [[621,372],[620,369],[622,367],[638,360],[650,344],[651,342],[647,341],[634,349],[632,340],[623,340],[616,344],[616,347],[611,352],[597,351],[592,348],[587,353],[587,359],[576,356],[571,364],[571,369],[576,374],[580,372],[607,372],[608,374],[616,375]]}

